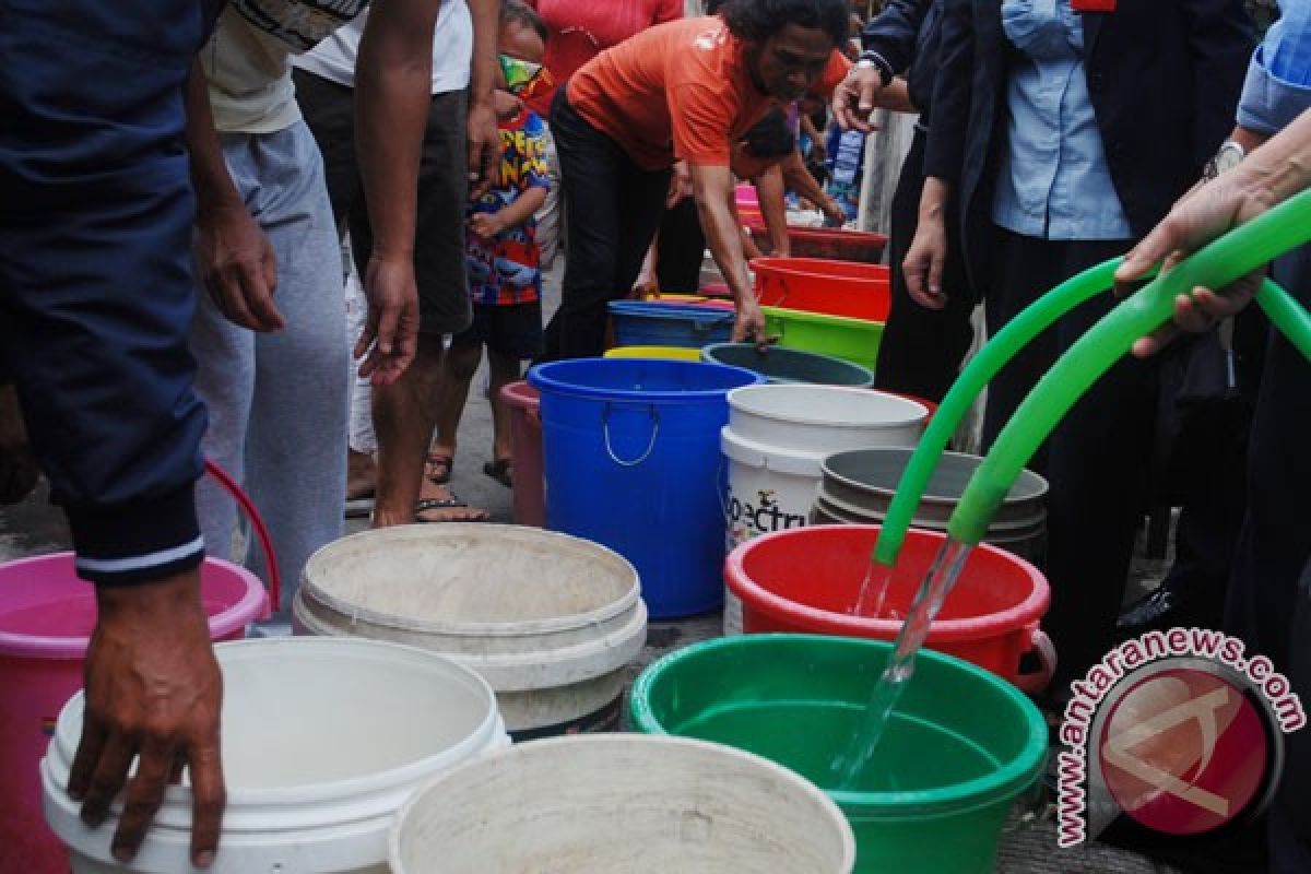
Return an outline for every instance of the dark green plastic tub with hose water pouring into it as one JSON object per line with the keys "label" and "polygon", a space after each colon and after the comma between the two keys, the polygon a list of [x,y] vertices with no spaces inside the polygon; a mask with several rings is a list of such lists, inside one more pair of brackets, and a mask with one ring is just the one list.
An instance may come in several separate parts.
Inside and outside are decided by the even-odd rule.
{"label": "dark green plastic tub with hose water pouring into it", "polygon": [[890,649],[794,634],[696,643],[637,677],[632,723],[726,743],[809,778],[851,823],[861,874],[991,871],[1007,814],[1042,772],[1042,714],[991,674],[922,653],[871,767],[838,790],[834,759],[860,729]]}

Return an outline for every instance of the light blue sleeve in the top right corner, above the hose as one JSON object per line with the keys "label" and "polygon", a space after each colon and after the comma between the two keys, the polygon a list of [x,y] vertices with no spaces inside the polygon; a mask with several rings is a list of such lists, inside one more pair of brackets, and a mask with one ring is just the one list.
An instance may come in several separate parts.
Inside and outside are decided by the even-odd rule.
{"label": "light blue sleeve in the top right corner, above the hose", "polygon": [[1273,135],[1311,107],[1311,0],[1280,0],[1281,17],[1247,68],[1238,123]]}

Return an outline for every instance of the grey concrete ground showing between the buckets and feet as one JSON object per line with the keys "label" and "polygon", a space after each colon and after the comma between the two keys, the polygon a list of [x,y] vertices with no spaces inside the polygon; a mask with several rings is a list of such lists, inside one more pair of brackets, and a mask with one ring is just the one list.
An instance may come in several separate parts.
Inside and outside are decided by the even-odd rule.
{"label": "grey concrete ground showing between the buckets and feet", "polygon": [[[547,312],[558,301],[558,269],[547,283]],[[490,511],[494,522],[511,522],[510,491],[482,473],[482,464],[492,453],[492,417],[481,396],[484,371],[475,380],[469,405],[460,425],[460,446],[455,457],[452,489],[473,506]],[[349,531],[367,523],[350,522]],[[62,515],[46,502],[46,489],[14,507],[0,507],[0,561],[41,554],[68,548],[68,533]],[[1135,562],[1127,596],[1154,586],[1164,571],[1164,562]],[[632,675],[680,646],[718,634],[720,617],[703,616],[676,622],[653,622],[646,647]],[[1156,864],[1099,843],[1062,850],[1057,848],[1053,811],[1049,805],[1020,806],[1003,837],[996,870],[1002,874],[1171,874],[1180,869]]]}

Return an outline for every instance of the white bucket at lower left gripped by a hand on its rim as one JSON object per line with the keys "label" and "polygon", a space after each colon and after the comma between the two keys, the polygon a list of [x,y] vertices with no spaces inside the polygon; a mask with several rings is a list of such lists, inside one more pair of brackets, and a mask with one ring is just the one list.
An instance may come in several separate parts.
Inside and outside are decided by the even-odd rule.
{"label": "white bucket at lower left gripped by a hand on its rim", "polygon": [[[405,646],[269,638],[220,643],[228,789],[212,874],[385,874],[387,835],[413,791],[465,759],[509,746],[488,684]],[[46,820],[73,874],[190,871],[191,793],[169,788],[134,862],[110,840],[121,805],[92,829],[68,798],[83,693],[59,714],[41,778]]]}

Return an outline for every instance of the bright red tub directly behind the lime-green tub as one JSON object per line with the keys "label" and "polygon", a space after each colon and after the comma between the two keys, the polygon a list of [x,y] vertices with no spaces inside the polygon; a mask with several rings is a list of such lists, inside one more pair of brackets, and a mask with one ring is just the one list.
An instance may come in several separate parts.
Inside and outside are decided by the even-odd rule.
{"label": "bright red tub directly behind the lime-green tub", "polygon": [[764,307],[886,321],[891,308],[888,267],[822,258],[755,258],[755,294]]}

